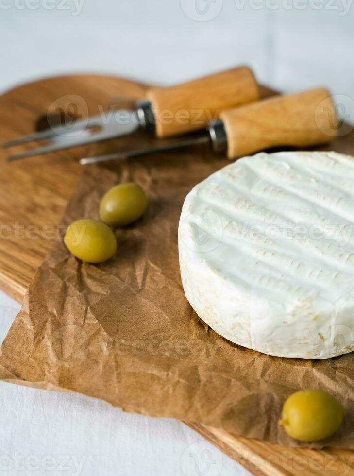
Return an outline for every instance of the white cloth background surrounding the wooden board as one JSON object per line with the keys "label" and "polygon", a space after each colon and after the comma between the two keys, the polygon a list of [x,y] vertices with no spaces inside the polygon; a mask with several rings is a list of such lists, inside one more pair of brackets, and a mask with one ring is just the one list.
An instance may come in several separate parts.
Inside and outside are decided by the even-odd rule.
{"label": "white cloth background surrounding the wooden board", "polygon": [[[342,0],[337,9],[320,0],[319,10],[308,2],[291,8],[291,0],[274,9],[215,0],[209,14],[220,12],[210,21],[196,21],[205,18],[195,17],[194,0],[80,0],[78,15],[74,0],[54,10],[44,0],[31,9],[30,1],[0,0],[0,91],[91,71],[172,84],[247,63],[283,91],[330,87],[341,95],[339,112],[353,120],[354,8],[343,15]],[[0,340],[18,310],[0,292]],[[249,474],[180,422],[124,414],[80,395],[0,383],[0,423],[0,474]]]}

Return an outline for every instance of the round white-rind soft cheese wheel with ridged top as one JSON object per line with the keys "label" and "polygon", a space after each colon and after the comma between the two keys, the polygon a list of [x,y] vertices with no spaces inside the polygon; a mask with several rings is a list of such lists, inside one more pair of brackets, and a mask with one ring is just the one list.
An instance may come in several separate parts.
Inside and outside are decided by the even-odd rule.
{"label": "round white-rind soft cheese wheel with ridged top", "polygon": [[194,187],[178,229],[190,305],[265,354],[354,350],[354,158],[258,153]]}

